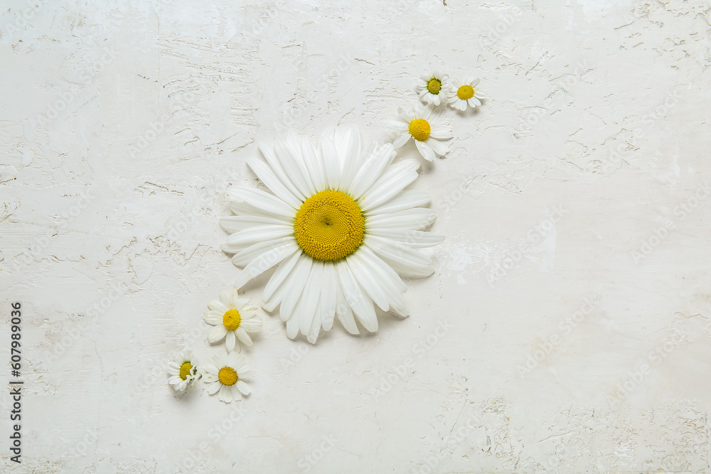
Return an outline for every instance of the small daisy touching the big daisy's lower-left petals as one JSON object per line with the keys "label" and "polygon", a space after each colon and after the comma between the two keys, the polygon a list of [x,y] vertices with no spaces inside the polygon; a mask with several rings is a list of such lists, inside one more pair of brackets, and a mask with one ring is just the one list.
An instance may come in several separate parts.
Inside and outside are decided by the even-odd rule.
{"label": "small daisy touching the big daisy's lower-left petals", "polygon": [[240,298],[237,290],[220,292],[220,300],[208,303],[203,314],[205,323],[217,326],[208,335],[210,343],[225,340],[225,348],[235,350],[236,340],[244,345],[252,345],[248,333],[258,333],[262,329],[262,318],[257,314],[257,307],[246,298]]}

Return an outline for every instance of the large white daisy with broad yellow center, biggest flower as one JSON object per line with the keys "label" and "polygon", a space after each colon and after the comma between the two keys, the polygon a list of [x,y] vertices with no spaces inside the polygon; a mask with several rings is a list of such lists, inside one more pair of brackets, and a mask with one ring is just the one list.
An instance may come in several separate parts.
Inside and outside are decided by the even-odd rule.
{"label": "large white daisy with broad yellow center, biggest flower", "polygon": [[[348,332],[378,330],[373,303],[407,316],[398,273],[432,274],[432,262],[416,249],[442,242],[421,232],[434,222],[429,193],[404,190],[419,163],[392,163],[392,144],[376,147],[358,131],[331,129],[314,147],[289,133],[274,146],[260,145],[267,162],[247,163],[274,194],[245,185],[228,189],[235,216],[220,220],[231,232],[222,248],[244,270],[235,286],[279,264],[264,287],[262,307],[316,342],[333,318]],[[355,314],[355,318],[353,315]]]}

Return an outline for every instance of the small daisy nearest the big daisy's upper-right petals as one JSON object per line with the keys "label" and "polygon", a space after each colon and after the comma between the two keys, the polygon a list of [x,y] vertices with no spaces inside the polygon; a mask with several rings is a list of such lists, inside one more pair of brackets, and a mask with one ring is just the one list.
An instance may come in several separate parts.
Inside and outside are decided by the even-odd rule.
{"label": "small daisy nearest the big daisy's upper-right petals", "polygon": [[429,105],[422,107],[417,104],[409,110],[399,107],[397,113],[399,119],[388,122],[400,134],[392,142],[396,149],[413,139],[419,153],[427,161],[434,160],[435,155],[444,156],[449,151],[449,144],[442,141],[452,139],[454,134],[451,133],[449,122],[441,118],[442,112],[436,112]]}

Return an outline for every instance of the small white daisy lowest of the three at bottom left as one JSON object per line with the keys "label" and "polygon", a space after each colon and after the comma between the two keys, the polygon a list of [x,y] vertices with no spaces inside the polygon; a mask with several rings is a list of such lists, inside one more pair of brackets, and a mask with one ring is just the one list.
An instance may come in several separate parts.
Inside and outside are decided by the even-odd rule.
{"label": "small white daisy lowest of the three at bottom left", "polygon": [[205,365],[202,370],[205,372],[208,394],[220,392],[220,401],[230,403],[232,400],[241,400],[242,395],[250,394],[250,387],[243,379],[252,377],[253,372],[244,355],[234,351],[223,352],[213,357],[213,363]]}

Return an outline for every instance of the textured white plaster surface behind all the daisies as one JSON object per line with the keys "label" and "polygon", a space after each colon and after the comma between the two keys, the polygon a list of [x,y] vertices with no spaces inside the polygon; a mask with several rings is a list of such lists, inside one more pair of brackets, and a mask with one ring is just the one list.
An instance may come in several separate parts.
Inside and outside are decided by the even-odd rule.
{"label": "textured white plaster surface behind all the daisies", "polygon": [[[0,346],[21,301],[26,394],[19,467],[1,399],[2,468],[711,472],[711,199],[678,208],[711,178],[710,23],[708,0],[4,1]],[[413,185],[447,240],[412,316],[309,346],[265,315],[249,398],[174,397],[173,352],[221,350],[201,314],[239,272],[218,218],[257,142],[386,140],[430,64],[491,99],[447,113],[452,151]]]}

